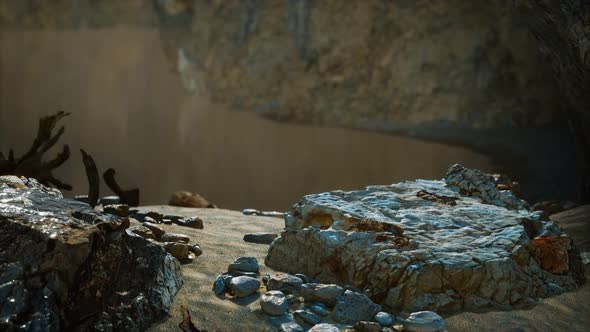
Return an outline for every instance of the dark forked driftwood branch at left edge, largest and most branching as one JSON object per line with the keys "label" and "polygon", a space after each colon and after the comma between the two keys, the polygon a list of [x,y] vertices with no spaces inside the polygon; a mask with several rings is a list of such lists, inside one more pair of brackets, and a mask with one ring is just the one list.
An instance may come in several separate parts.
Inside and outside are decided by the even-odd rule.
{"label": "dark forked driftwood branch at left edge, largest and most branching", "polygon": [[49,162],[43,161],[43,155],[51,149],[65,132],[64,127],[60,127],[55,135],[53,131],[62,118],[70,115],[60,111],[54,115],[42,117],[39,120],[37,137],[29,150],[20,158],[14,157],[14,151],[8,152],[8,158],[0,154],[0,175],[18,175],[37,179],[40,183],[50,186],[53,185],[59,189],[72,190],[72,186],[53,176],[53,170],[60,167],[70,158],[70,148],[64,145],[61,152]]}

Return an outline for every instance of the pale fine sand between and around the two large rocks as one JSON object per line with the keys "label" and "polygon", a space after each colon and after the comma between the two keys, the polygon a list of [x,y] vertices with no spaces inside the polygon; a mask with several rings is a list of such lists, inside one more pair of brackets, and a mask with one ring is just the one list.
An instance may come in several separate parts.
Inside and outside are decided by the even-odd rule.
{"label": "pale fine sand between and around the two large rocks", "polygon": [[[254,256],[261,265],[261,273],[271,270],[264,266],[267,245],[247,243],[246,233],[280,232],[283,220],[272,217],[244,216],[237,211],[223,209],[190,209],[165,206],[149,207],[166,214],[198,216],[204,229],[177,225],[162,225],[168,232],[184,233],[197,242],[203,255],[183,265],[184,286],[177,294],[170,317],[153,325],[150,331],[180,331],[180,306],[186,306],[195,325],[211,331],[264,331],[269,328],[267,317],[260,312],[259,295],[240,301],[218,298],[211,284],[218,274],[240,256]],[[590,251],[588,220],[590,207],[566,211],[552,219],[574,238],[581,251]],[[588,268],[586,272],[588,274]],[[542,300],[526,310],[460,313],[446,318],[449,331],[590,331],[590,286],[575,292]]]}

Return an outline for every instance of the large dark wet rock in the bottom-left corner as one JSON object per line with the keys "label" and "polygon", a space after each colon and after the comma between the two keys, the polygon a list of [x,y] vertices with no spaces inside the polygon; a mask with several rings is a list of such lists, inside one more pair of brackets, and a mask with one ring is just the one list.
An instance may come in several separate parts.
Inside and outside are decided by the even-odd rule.
{"label": "large dark wet rock in the bottom-left corner", "polygon": [[128,225],[0,177],[0,330],[140,331],[166,316],[180,264]]}

